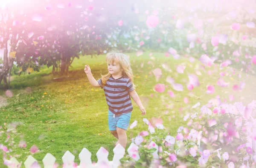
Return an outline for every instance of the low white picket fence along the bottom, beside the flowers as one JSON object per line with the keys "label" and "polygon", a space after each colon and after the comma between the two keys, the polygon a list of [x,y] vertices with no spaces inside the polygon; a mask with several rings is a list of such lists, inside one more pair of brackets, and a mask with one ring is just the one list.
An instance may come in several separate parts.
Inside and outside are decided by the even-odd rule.
{"label": "low white picket fence along the bottom, beside the flowers", "polygon": [[[138,152],[138,146],[134,143],[131,143],[131,145],[128,148],[128,154],[134,160],[139,160],[139,152]],[[157,150],[153,153],[154,158],[158,159],[158,146],[156,143],[151,141],[148,148],[156,148]],[[99,151],[96,153],[96,156],[98,158],[98,162],[93,164],[91,161],[91,153],[88,151],[87,148],[83,148],[82,151],[79,154],[80,159],[80,165],[77,166],[77,168],[117,168],[121,163],[120,159],[124,157],[125,155],[125,148],[123,148],[120,144],[117,144],[116,147],[113,149],[113,161],[108,160],[108,151],[100,147]],[[75,160],[75,156],[70,152],[66,151],[63,157],[61,157],[63,161],[63,168],[74,168],[73,163]],[[9,161],[12,162],[12,165],[9,165],[8,168],[17,168],[17,165],[20,164],[20,162],[15,159],[15,157],[12,157]],[[42,160],[44,164],[44,168],[53,168],[55,164],[56,158],[50,154],[47,153]],[[37,162],[34,157],[29,155],[29,157],[26,159],[26,161],[23,163],[25,165],[25,168],[31,168],[31,165],[33,163]]]}

